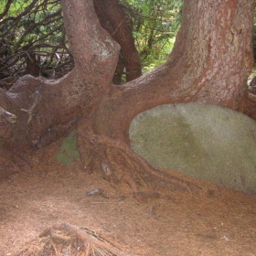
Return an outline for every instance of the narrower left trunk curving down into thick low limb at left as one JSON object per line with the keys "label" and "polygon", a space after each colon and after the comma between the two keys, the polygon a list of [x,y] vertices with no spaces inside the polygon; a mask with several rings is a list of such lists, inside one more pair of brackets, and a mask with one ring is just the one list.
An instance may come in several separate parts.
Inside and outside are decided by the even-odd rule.
{"label": "narrower left trunk curving down into thick low limb at left", "polygon": [[[90,114],[103,91],[111,85],[118,44],[101,28],[91,1],[61,3],[75,69],[55,81],[25,76],[10,91],[1,91],[1,106],[17,117],[16,124],[2,126],[5,147],[17,150],[35,144],[41,147],[67,133],[81,115]],[[40,95],[37,108],[32,121],[27,123],[29,116],[21,109],[33,106],[37,92]],[[13,136],[16,140],[10,139]]]}

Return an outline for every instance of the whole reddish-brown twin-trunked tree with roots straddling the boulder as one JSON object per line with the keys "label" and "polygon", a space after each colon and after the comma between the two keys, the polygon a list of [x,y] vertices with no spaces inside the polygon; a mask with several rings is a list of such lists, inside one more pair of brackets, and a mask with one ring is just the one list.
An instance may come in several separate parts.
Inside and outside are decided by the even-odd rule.
{"label": "whole reddish-brown twin-trunked tree with roots straddling the boulder", "polygon": [[128,129],[137,113],[188,101],[250,112],[246,82],[253,0],[185,1],[168,61],[123,85],[112,84],[120,47],[102,29],[92,1],[62,0],[61,5],[75,68],[55,81],[25,76],[10,91],[0,91],[5,165],[0,172],[16,168],[10,159],[21,161],[25,150],[44,147],[76,128],[81,163],[89,173],[99,169],[113,183],[123,170],[134,192],[144,184],[142,171],[179,182],[130,150]]}

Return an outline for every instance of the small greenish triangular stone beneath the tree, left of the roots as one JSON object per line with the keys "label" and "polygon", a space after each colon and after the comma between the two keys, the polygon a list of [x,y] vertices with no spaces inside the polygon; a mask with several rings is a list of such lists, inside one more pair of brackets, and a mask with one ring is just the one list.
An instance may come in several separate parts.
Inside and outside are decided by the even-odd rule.
{"label": "small greenish triangular stone beneath the tree, left of the roots", "polygon": [[73,130],[63,140],[60,146],[60,152],[56,155],[56,159],[63,165],[72,165],[75,159],[80,159],[80,154],[77,150],[77,135]]}

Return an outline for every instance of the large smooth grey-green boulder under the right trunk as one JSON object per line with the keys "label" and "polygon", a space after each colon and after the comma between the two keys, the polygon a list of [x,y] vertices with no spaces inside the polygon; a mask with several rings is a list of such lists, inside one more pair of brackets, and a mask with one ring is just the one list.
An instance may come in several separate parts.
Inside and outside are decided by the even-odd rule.
{"label": "large smooth grey-green boulder under the right trunk", "polygon": [[133,119],[130,139],[151,165],[256,193],[256,123],[240,112],[200,102],[161,105]]}

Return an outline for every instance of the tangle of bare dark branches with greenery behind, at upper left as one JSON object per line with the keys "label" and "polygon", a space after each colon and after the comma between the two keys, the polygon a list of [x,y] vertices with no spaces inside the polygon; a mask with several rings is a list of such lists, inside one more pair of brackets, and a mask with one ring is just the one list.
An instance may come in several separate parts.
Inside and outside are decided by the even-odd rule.
{"label": "tangle of bare dark branches with greenery behind, at upper left", "polygon": [[0,80],[25,74],[53,77],[53,68],[63,67],[60,62],[71,62],[65,58],[69,51],[59,0],[2,2]]}

